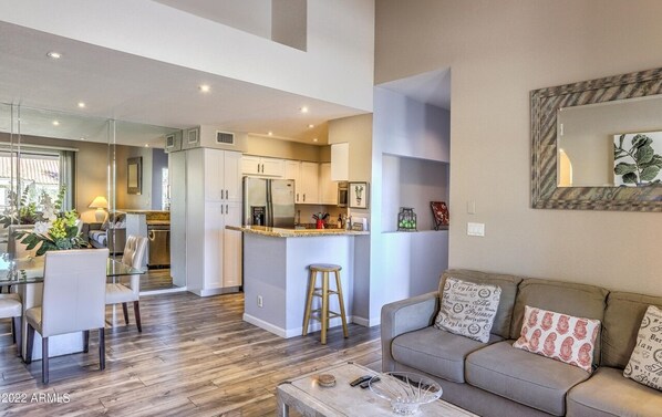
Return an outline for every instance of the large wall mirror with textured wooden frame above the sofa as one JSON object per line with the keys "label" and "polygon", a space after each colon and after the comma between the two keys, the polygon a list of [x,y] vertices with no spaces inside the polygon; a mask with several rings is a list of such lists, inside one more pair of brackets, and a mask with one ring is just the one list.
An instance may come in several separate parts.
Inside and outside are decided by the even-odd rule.
{"label": "large wall mirror with textured wooden frame above the sofa", "polygon": [[662,211],[662,69],[535,90],[531,207]]}

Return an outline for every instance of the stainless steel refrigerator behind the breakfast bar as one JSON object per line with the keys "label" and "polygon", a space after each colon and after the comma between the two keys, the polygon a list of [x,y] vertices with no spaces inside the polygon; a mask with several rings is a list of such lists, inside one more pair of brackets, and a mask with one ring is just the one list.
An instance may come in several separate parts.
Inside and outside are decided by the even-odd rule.
{"label": "stainless steel refrigerator behind the breakfast bar", "polygon": [[294,227],[294,180],[244,177],[244,225]]}

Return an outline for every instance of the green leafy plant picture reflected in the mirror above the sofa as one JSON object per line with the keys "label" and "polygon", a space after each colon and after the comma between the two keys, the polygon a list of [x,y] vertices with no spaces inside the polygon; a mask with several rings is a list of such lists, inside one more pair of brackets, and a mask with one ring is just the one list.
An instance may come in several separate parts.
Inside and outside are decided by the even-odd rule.
{"label": "green leafy plant picture reflected in the mirror above the sofa", "polygon": [[647,135],[638,134],[632,138],[630,148],[623,147],[625,135],[619,137],[618,146],[613,147],[613,160],[617,161],[622,158],[632,158],[634,164],[619,163],[613,171],[616,175],[623,177],[624,184],[659,184],[660,179],[655,177],[662,170],[662,156],[655,154],[651,146],[653,139]]}

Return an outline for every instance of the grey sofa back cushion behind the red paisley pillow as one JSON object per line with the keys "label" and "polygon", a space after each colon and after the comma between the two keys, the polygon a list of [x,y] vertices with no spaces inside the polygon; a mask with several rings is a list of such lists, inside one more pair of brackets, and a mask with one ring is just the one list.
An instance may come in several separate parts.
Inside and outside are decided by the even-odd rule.
{"label": "grey sofa back cushion behind the red paisley pillow", "polygon": [[[602,322],[607,294],[607,290],[594,285],[534,278],[525,279],[519,284],[519,292],[513,309],[510,338],[519,337],[526,305]],[[599,358],[600,343],[596,343],[593,362],[597,364]]]}

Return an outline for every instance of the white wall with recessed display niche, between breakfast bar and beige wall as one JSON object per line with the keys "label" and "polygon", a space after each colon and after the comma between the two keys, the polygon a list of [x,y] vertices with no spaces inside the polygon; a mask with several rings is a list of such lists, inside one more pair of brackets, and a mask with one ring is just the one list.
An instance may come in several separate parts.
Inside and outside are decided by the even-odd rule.
{"label": "white wall with recessed display niche, between breakfast bar and beige wall", "polygon": [[[392,222],[402,199],[412,198],[415,189],[433,197],[416,196],[431,201],[446,185],[413,186],[407,173],[401,176],[401,165],[408,170],[418,165],[444,166],[449,160],[449,113],[425,105],[390,90],[375,87],[372,139],[372,232],[370,236],[370,324],[379,324],[385,303],[418,295],[436,288],[438,277],[447,268],[447,231],[392,232]],[[418,168],[416,168],[418,169]],[[447,176],[439,176],[447,178]],[[442,178],[439,178],[439,181]],[[407,191],[402,191],[402,189]],[[443,191],[442,191],[443,189]],[[395,207],[395,210],[393,209]],[[417,216],[432,216],[430,208],[418,208]]]}

